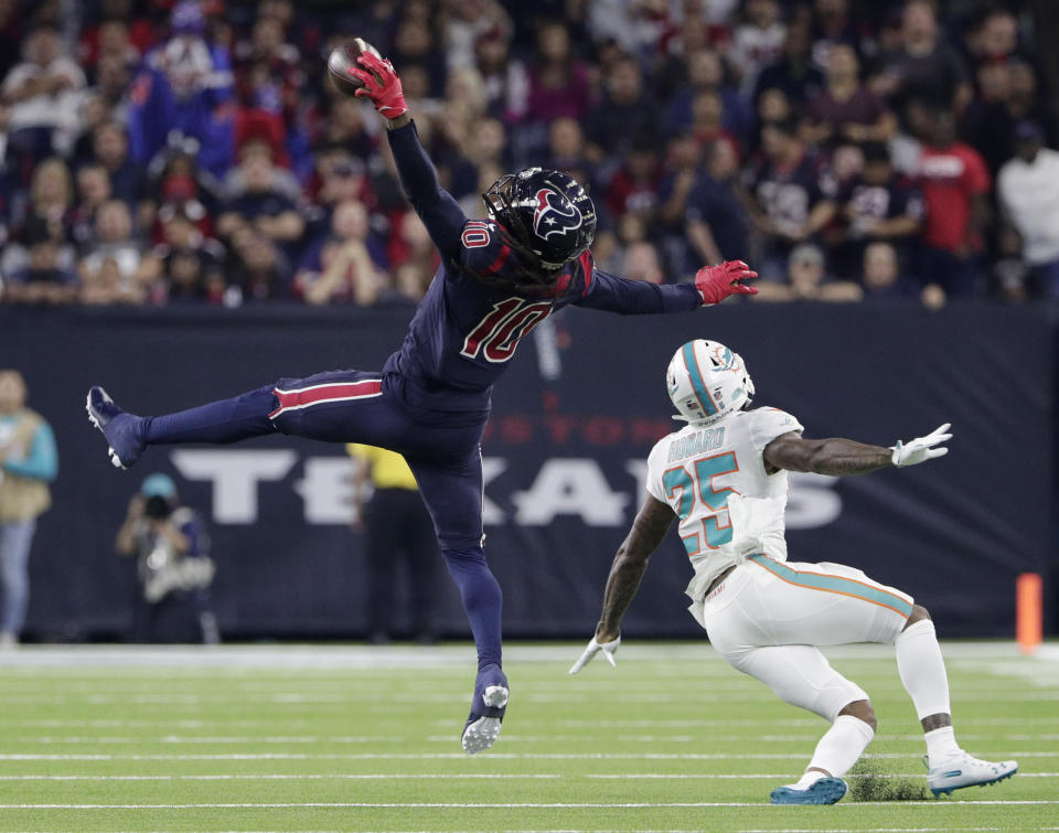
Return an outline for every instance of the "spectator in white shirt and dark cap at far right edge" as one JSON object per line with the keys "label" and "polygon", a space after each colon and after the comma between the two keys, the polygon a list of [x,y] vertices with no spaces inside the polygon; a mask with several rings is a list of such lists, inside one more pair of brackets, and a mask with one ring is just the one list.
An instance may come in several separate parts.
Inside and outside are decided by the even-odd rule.
{"label": "spectator in white shirt and dark cap at far right edge", "polygon": [[1037,122],[1016,125],[1015,157],[1001,168],[997,193],[1006,221],[1023,238],[1037,291],[1059,298],[1059,151],[1045,147]]}

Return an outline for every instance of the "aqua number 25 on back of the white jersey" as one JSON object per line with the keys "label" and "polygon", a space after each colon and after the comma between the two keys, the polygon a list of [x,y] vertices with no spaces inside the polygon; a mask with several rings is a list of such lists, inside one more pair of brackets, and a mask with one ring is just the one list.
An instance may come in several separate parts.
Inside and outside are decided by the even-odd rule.
{"label": "aqua number 25 on back of the white jersey", "polygon": [[[714,478],[734,471],[739,471],[739,462],[735,451],[727,451],[689,460],[683,466],[666,469],[662,474],[666,496],[671,501],[680,500],[676,513],[681,516],[681,532],[685,532],[684,525],[688,519],[702,527],[702,532],[681,535],[688,556],[699,555],[703,549],[717,549],[731,541],[728,495],[738,492],[728,487],[716,488]],[[720,523],[721,513],[725,513],[724,525]]]}

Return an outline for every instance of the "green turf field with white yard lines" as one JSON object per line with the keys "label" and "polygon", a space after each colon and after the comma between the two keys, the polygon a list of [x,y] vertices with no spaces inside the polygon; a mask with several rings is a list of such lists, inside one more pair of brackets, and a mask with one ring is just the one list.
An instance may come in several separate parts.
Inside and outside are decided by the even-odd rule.
{"label": "green turf field with white yard lines", "polygon": [[[23,649],[0,658],[3,831],[1059,829],[1059,647],[948,644],[956,737],[1019,773],[926,798],[892,652],[830,651],[879,733],[828,808],[768,804],[824,723],[705,643],[511,645],[496,746],[464,755],[472,651]],[[892,800],[894,798],[905,800]],[[868,801],[857,801],[866,798]],[[879,799],[890,799],[880,801]]]}

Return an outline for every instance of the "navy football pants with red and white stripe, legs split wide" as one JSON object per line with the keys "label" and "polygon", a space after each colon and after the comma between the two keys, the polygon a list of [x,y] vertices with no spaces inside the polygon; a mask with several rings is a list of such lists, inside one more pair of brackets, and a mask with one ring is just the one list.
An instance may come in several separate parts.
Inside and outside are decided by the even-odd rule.
{"label": "navy football pants with red and white stripe, legs split wide", "polygon": [[485,424],[446,421],[414,416],[379,373],[333,371],[282,378],[232,399],[147,417],[146,439],[149,445],[227,444],[281,431],[404,455],[460,588],[482,668],[500,662],[502,604],[500,585],[482,553],[480,442]]}

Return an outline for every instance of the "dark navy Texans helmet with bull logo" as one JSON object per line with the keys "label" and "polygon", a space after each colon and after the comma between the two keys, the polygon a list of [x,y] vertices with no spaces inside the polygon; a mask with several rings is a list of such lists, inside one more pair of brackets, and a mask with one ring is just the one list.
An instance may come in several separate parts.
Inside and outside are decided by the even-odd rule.
{"label": "dark navy Texans helmet with bull logo", "polygon": [[596,206],[561,171],[526,168],[496,180],[482,194],[489,215],[546,273],[579,257],[596,236]]}

